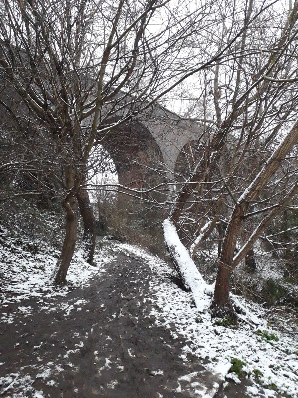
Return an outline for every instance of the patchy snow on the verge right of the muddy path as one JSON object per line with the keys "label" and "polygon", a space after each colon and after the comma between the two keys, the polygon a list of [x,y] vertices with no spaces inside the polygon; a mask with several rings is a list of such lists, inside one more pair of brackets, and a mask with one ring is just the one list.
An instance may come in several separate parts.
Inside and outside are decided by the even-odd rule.
{"label": "patchy snow on the verge right of the muddy path", "polygon": [[[130,245],[120,245],[131,255],[142,257],[158,275],[151,281],[151,291],[157,299],[159,310],[152,311],[156,324],[169,328],[175,323],[176,332],[185,336],[189,344],[183,348],[198,358],[208,359],[206,369],[218,373],[222,380],[239,383],[239,375],[230,372],[232,362],[241,364],[240,372],[252,386],[247,387],[251,397],[298,397],[298,343],[297,336],[273,330],[264,320],[265,310],[243,298],[235,298],[248,309],[237,326],[224,327],[222,320],[212,319],[208,312],[199,313],[191,305],[192,294],[177,288],[165,276],[175,272],[157,256]],[[150,298],[149,298],[150,299]],[[211,299],[211,297],[210,297]],[[185,356],[186,358],[186,356]],[[235,366],[233,367],[235,368]],[[261,394],[263,391],[263,395]],[[198,397],[208,397],[198,390]]]}

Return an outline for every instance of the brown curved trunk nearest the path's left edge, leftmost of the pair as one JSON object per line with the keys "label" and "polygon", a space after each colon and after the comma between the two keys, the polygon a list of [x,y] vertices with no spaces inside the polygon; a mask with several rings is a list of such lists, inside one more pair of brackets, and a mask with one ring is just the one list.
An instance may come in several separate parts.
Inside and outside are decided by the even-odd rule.
{"label": "brown curved trunk nearest the path's left edge, leftmost of the pair", "polygon": [[76,243],[77,216],[74,195],[64,199],[62,206],[66,210],[66,232],[59,260],[54,270],[56,283],[66,283],[66,274],[69,269]]}

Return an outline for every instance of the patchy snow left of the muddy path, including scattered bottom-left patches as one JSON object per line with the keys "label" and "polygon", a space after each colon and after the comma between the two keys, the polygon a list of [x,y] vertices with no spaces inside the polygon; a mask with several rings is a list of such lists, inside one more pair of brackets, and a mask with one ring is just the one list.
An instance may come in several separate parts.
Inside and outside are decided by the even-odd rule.
{"label": "patchy snow left of the muddy path, including scattered bottom-left patches", "polygon": [[[81,252],[78,250],[67,274],[68,284],[55,286],[50,278],[58,253],[53,247],[40,240],[22,239],[18,241],[15,238],[10,238],[8,234],[5,236],[5,241],[2,239],[0,242],[0,324],[14,323],[17,314],[5,312],[9,303],[22,303],[29,298],[36,298],[40,303],[40,309],[45,313],[55,312],[59,308],[65,310],[64,316],[68,316],[71,311],[80,311],[85,300],[78,300],[73,305],[61,303],[57,300],[56,305],[51,307],[44,305],[43,301],[48,298],[67,296],[70,290],[74,288],[87,287],[91,278],[98,272],[104,272],[105,265],[116,257],[109,250],[102,250],[100,256],[96,256],[95,266],[91,266],[83,260]],[[20,305],[17,309],[18,313],[21,312],[24,321],[32,311],[30,305]],[[40,345],[33,347],[33,349],[38,350],[43,344],[43,342],[40,342]],[[83,345],[83,342],[81,344]],[[18,348],[17,345],[15,348]],[[42,360],[40,359],[40,361]],[[0,366],[4,366],[4,363],[0,363]],[[72,364],[70,363],[69,366],[72,366]],[[37,378],[46,379],[50,375],[55,378],[55,374],[63,371],[63,369],[53,362],[49,362],[46,365],[40,364],[38,371]],[[42,391],[36,391],[33,388],[33,382],[34,380],[28,374],[28,368],[19,367],[15,373],[0,378],[0,395],[3,396],[6,392],[13,390],[14,386],[15,388],[21,386],[23,394],[13,394],[9,397],[44,398]],[[49,380],[48,383],[53,384],[55,382]]]}

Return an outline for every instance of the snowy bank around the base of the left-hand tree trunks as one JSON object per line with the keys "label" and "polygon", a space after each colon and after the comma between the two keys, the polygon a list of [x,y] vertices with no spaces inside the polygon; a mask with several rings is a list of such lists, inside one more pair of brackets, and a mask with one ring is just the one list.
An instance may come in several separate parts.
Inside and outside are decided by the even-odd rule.
{"label": "snowy bank around the base of the left-hand tree trunks", "polygon": [[[58,253],[42,241],[25,239],[19,246],[14,238],[6,237],[6,245],[0,244],[0,306],[32,297],[66,296],[69,285],[57,287],[50,282]],[[111,254],[103,251],[96,266],[92,266],[83,260],[78,250],[67,274],[69,284],[72,287],[86,286],[112,259]],[[30,308],[23,308],[24,313],[28,311]]]}

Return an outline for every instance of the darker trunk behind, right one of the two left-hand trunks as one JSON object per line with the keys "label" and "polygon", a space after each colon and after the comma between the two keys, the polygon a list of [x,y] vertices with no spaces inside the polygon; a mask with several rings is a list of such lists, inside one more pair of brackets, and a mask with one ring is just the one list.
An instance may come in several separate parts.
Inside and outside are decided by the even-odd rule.
{"label": "darker trunk behind, right one of the two left-hand trunks", "polygon": [[92,264],[96,242],[94,214],[90,198],[86,190],[79,188],[76,198],[84,223],[84,235],[82,240],[83,258],[87,263]]}

